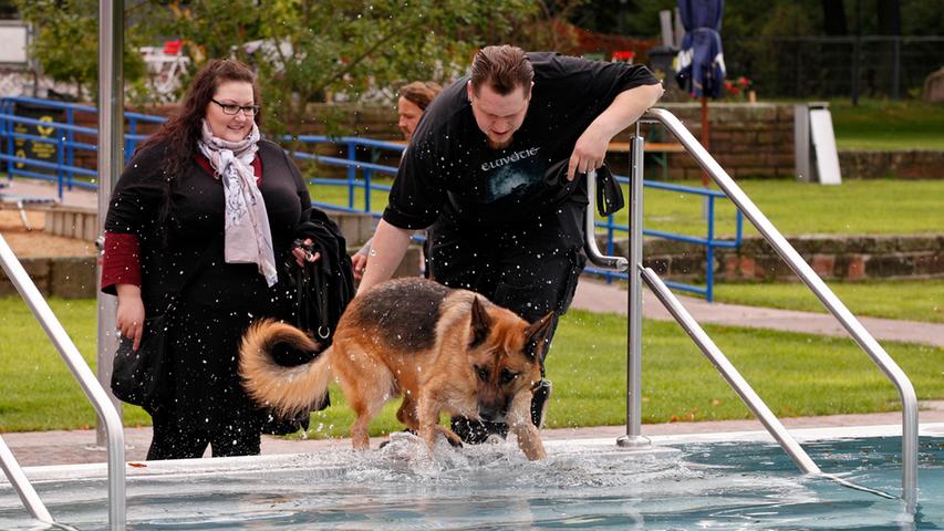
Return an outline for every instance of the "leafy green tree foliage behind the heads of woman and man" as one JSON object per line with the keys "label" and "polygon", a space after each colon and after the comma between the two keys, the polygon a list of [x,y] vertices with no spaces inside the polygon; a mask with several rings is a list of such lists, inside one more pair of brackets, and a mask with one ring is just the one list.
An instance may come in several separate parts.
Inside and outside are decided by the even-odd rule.
{"label": "leafy green tree foliage behind the heads of woman and man", "polygon": [[480,35],[508,34],[535,11],[531,0],[190,0],[168,4],[160,30],[184,39],[194,69],[224,56],[256,66],[270,131],[319,121],[340,134],[354,132],[308,104],[450,80],[486,44]]}

